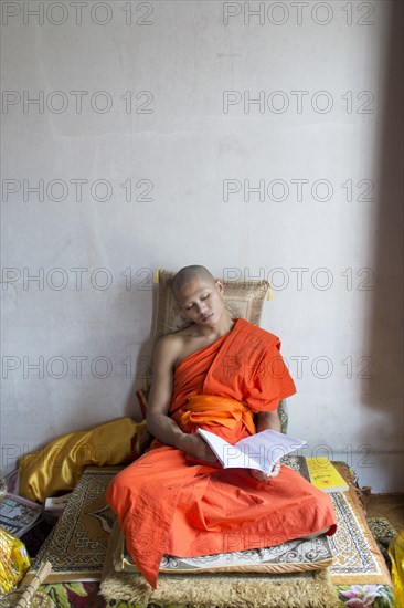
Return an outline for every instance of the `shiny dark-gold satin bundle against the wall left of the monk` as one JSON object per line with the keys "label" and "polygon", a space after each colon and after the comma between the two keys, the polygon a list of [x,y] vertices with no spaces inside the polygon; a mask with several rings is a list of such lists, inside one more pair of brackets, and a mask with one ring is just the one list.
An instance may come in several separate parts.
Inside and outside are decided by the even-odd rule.
{"label": "shiny dark-gold satin bundle against the wall left of the monk", "polygon": [[85,467],[128,462],[141,453],[147,437],[146,421],[130,418],[59,437],[20,459],[20,494],[43,502],[57,492],[73,490]]}

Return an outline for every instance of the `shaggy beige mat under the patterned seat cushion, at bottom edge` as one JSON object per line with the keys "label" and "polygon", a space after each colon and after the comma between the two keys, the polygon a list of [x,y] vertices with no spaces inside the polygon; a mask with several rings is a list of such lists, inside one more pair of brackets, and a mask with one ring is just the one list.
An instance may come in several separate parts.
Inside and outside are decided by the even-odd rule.
{"label": "shaggy beige mat under the patterned seat cushion, at bottom edge", "polygon": [[337,608],[338,595],[328,569],[284,575],[160,574],[152,589],[140,574],[114,570],[114,547],[119,527],[115,526],[105,559],[100,593],[108,601],[146,605],[187,605],[194,608]]}

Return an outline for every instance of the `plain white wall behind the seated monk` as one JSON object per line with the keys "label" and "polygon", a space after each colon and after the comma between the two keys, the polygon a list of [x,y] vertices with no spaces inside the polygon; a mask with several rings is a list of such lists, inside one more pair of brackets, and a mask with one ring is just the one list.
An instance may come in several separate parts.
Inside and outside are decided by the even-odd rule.
{"label": "plain white wall behind the seated monk", "polygon": [[[403,490],[398,4],[309,2],[300,17],[285,1],[89,0],[77,24],[67,1],[45,3],[43,20],[30,14],[41,2],[3,2],[3,471],[64,432],[136,415],[151,273],[202,263],[274,284],[263,326],[298,388],[290,432],[352,458],[361,484]],[[244,7],[264,12],[248,24]],[[81,113],[74,91],[87,92]],[[264,107],[243,106],[259,92]],[[43,200],[28,190],[39,180]],[[265,180],[265,200],[244,180]],[[270,200],[274,180],[285,200]],[[224,188],[240,191],[225,201]],[[43,371],[28,367],[40,357]]]}

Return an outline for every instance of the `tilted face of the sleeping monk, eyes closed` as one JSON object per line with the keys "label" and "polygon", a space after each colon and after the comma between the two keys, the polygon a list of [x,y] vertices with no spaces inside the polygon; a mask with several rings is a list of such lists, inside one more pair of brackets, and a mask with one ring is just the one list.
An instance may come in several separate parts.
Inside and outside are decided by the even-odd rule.
{"label": "tilted face of the sleeping monk, eyes closed", "polygon": [[182,285],[177,298],[188,318],[198,325],[212,325],[219,322],[224,312],[223,283],[195,277]]}

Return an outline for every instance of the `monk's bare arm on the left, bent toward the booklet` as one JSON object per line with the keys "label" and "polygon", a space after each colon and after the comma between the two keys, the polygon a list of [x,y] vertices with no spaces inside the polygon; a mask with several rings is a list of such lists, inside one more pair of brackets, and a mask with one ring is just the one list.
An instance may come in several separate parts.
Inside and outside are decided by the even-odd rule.
{"label": "monk's bare arm on the left, bent toward the booklet", "polygon": [[147,428],[161,443],[183,450],[196,459],[214,462],[202,438],[182,432],[169,416],[178,344],[172,336],[160,338],[153,355],[153,379],[147,407]]}

